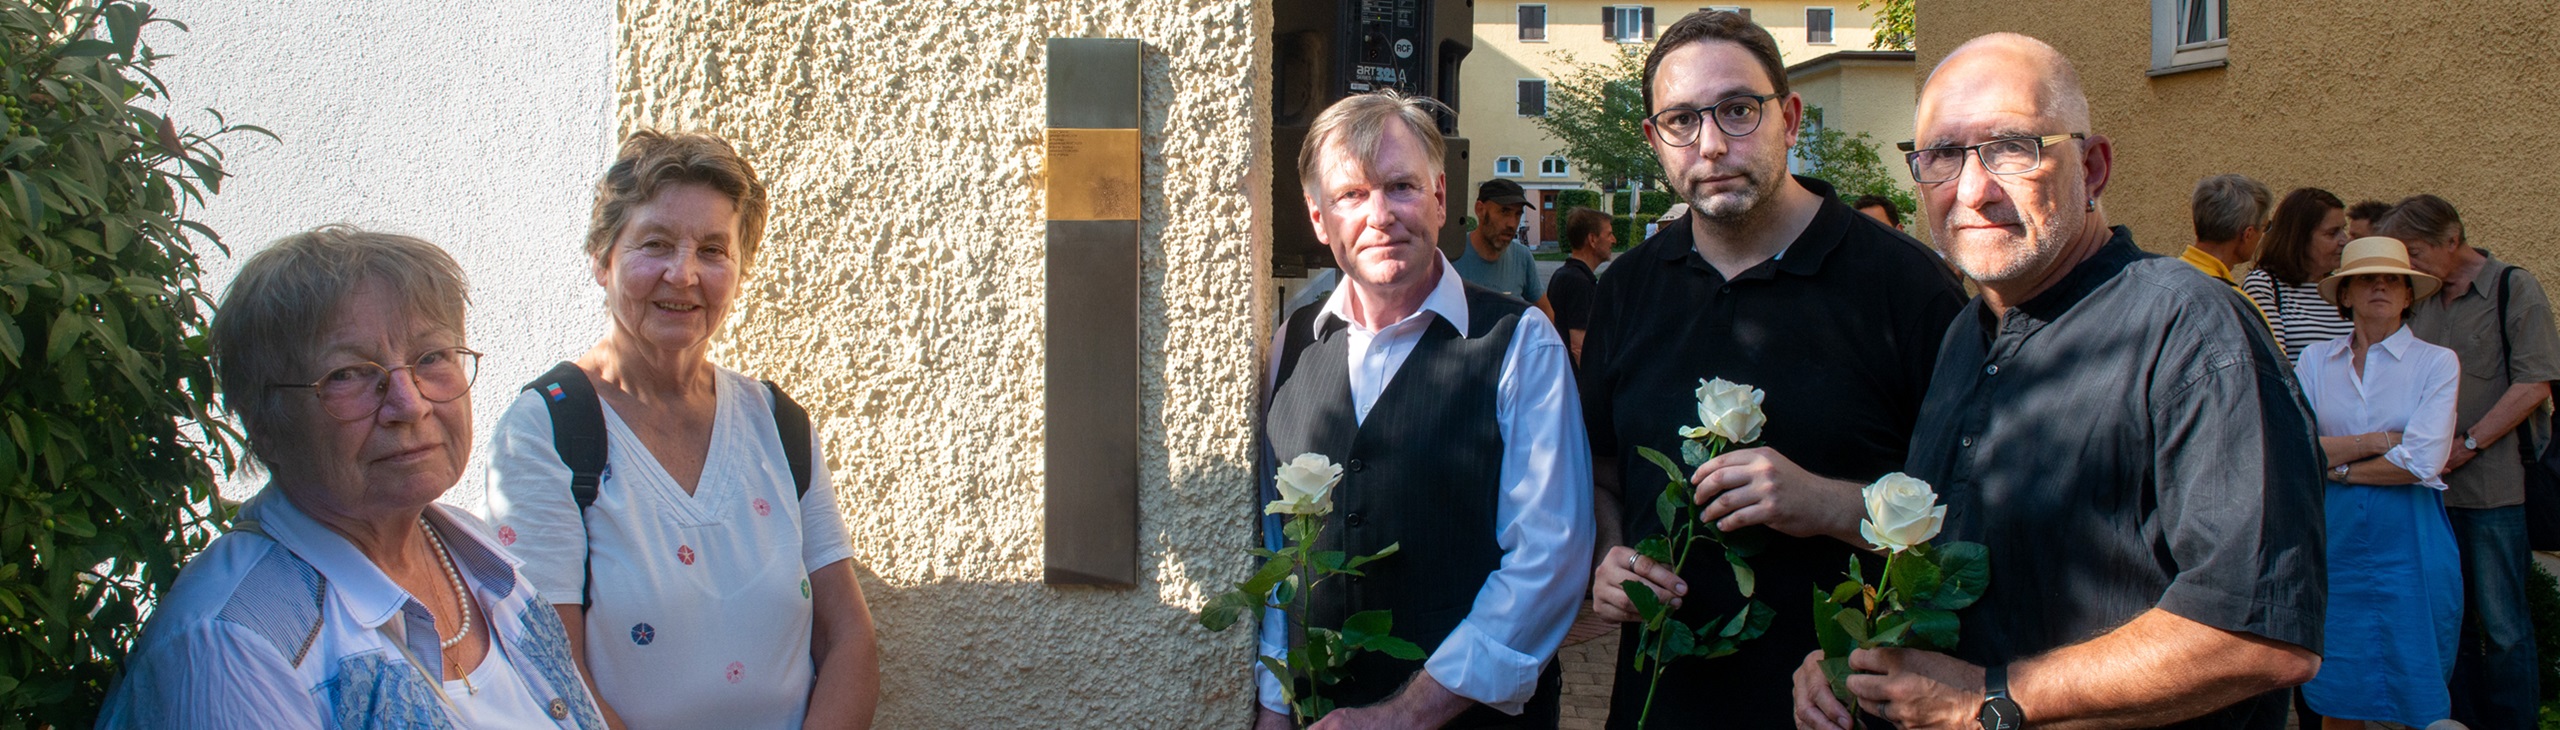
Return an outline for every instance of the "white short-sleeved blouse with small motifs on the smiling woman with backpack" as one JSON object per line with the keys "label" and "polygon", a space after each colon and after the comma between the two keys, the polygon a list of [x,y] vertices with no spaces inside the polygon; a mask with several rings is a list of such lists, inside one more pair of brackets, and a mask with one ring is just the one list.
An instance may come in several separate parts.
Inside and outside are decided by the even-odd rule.
{"label": "white short-sleeved blouse with small motifs on the smiling woman with backpack", "polygon": [[[717,389],[694,494],[607,405],[609,456],[586,520],[538,394],[522,392],[489,441],[499,543],[556,604],[576,604],[591,581],[586,666],[635,730],[801,727],[817,681],[809,574],[852,558],[822,458],[809,464],[809,494],[791,494],[765,387],[722,369]],[[812,430],[812,456],[817,441]]]}

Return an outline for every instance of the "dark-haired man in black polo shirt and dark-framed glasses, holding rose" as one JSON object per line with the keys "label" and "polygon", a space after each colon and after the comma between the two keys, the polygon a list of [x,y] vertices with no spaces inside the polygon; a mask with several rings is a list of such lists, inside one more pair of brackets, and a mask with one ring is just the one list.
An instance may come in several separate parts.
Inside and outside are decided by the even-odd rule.
{"label": "dark-haired man in black polo shirt and dark-framed glasses, holding rose", "polygon": [[[1766,392],[1766,448],[1682,474],[1708,520],[1766,533],[1751,558],[1756,597],[1777,620],[1738,653],[1679,661],[1651,692],[1654,727],[1782,727],[1787,674],[1812,651],[1805,587],[1836,584],[1859,535],[1859,482],[1902,469],[1920,394],[1964,289],[1938,256],[1851,210],[1828,182],[1787,174],[1802,97],[1769,31],[1736,13],[1695,13],[1661,33],[1644,69],[1646,141],[1690,213],[1610,266],[1582,341],[1582,405],[1592,453],[1618,484],[1664,484],[1638,446],[1679,453],[1697,425],[1700,379]],[[1820,476],[1815,476],[1820,474]],[[1851,482],[1841,482],[1851,479]],[[1743,607],[1723,561],[1674,574],[1631,548],[1661,533],[1638,499],[1620,505],[1618,548],[1592,571],[1592,612],[1628,622],[1641,581],[1682,622]],[[1710,566],[1713,564],[1713,566]],[[1610,727],[1646,715],[1649,671],[1633,671],[1636,628],[1620,635]]]}

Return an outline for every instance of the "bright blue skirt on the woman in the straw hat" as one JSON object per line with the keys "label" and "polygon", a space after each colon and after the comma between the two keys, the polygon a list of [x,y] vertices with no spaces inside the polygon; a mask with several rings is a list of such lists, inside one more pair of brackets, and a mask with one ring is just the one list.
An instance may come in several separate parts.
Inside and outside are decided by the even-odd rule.
{"label": "bright blue skirt on the woman in the straw hat", "polygon": [[2304,699],[2345,720],[2427,727],[2450,717],[2463,564],[2442,494],[2337,482],[2327,492],[2330,610]]}

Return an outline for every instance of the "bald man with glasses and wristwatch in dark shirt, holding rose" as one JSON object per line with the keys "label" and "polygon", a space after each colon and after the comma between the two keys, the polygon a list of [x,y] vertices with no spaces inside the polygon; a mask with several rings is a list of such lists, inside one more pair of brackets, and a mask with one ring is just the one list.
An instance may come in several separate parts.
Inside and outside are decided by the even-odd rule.
{"label": "bald man with glasses and wristwatch in dark shirt, holding rose", "polygon": [[[2324,466],[2258,307],[2107,225],[2115,146],[2043,41],[1948,54],[1905,159],[1981,282],[1907,474],[1992,579],[1953,656],[1853,651],[1848,692],[1900,727],[2284,727],[2319,666]],[[1818,658],[1797,727],[1851,727]]]}

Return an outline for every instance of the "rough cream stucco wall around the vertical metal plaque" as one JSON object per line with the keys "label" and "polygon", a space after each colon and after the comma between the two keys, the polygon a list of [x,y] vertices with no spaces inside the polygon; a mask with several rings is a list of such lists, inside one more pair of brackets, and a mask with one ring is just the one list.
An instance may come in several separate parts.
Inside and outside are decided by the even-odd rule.
{"label": "rough cream stucco wall around the vertical metal plaque", "polygon": [[[1270,323],[1270,8],[622,0],[617,118],[735,138],[773,187],[714,359],[827,433],[891,727],[1249,717],[1244,576]],[[1044,38],[1142,38],[1142,584],[1039,584]]]}

